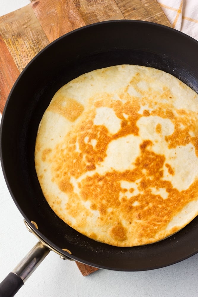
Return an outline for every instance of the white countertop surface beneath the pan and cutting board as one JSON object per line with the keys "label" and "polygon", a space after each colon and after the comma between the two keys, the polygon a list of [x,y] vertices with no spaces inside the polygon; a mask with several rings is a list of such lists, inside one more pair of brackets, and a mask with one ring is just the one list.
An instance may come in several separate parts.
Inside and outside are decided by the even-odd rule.
{"label": "white countertop surface beneath the pan and cutting board", "polygon": [[[3,1],[3,2],[2,2]],[[0,0],[0,15],[29,0]],[[37,243],[9,194],[0,169],[0,282]],[[99,270],[83,277],[74,262],[53,252],[16,294],[18,297],[197,297],[198,254],[180,263],[150,271]]]}

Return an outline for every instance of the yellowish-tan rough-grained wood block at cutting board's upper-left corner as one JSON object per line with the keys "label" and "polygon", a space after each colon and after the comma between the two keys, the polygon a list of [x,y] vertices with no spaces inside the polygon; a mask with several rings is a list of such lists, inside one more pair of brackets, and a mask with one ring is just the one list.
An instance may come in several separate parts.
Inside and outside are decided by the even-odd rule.
{"label": "yellowish-tan rough-grained wood block at cutting board's upper-left corner", "polygon": [[20,72],[49,44],[30,4],[2,16],[0,34]]}

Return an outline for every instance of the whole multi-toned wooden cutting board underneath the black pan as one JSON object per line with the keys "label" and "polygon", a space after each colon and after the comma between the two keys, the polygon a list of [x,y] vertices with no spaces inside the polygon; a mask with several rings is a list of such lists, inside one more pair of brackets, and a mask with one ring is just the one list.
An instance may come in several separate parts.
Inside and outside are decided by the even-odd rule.
{"label": "whole multi-toned wooden cutting board underneath the black pan", "polygon": [[[156,0],[30,0],[0,17],[0,112],[20,72],[53,40],[104,20],[145,20],[171,26]],[[34,79],[34,78],[32,78]],[[77,263],[85,276],[97,270]]]}

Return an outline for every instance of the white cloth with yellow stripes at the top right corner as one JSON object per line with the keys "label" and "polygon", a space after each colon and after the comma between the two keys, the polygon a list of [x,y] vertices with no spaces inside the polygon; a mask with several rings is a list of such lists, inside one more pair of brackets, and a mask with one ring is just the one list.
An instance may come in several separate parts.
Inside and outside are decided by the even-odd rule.
{"label": "white cloth with yellow stripes at the top right corner", "polygon": [[173,28],[198,40],[198,0],[157,0]]}

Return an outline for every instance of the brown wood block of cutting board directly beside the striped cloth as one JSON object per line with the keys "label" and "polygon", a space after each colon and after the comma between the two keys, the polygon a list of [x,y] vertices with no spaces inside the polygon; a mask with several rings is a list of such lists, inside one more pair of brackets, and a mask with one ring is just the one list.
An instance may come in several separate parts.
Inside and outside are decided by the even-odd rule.
{"label": "brown wood block of cutting board directly beside the striped cloth", "polygon": [[171,27],[156,0],[115,0],[125,19],[145,20]]}

